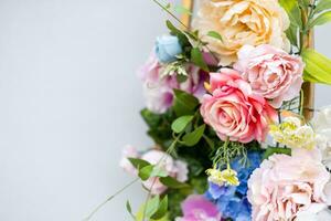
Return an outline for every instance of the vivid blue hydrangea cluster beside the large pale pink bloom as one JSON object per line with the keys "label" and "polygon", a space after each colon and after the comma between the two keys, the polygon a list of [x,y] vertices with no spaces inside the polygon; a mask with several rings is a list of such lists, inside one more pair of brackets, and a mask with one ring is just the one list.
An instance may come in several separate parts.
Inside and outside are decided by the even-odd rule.
{"label": "vivid blue hydrangea cluster beside the large pale pink bloom", "polygon": [[247,200],[247,181],[252,172],[259,167],[261,156],[259,152],[248,152],[248,165],[244,167],[239,158],[231,164],[232,169],[237,171],[241,185],[238,187],[220,187],[210,182],[206,193],[207,198],[214,200],[223,218],[231,218],[233,221],[250,221],[252,206]]}

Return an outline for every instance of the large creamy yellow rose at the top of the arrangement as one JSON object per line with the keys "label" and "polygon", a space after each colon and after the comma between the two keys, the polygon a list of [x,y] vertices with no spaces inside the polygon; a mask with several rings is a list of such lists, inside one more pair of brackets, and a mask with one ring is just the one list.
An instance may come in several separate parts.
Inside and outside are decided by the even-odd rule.
{"label": "large creamy yellow rose at the top of the arrangement", "polygon": [[[277,0],[202,0],[193,27],[200,31],[209,49],[228,65],[237,60],[237,52],[245,44],[271,44],[289,50],[285,31],[289,18]],[[223,41],[207,36],[218,32]]]}

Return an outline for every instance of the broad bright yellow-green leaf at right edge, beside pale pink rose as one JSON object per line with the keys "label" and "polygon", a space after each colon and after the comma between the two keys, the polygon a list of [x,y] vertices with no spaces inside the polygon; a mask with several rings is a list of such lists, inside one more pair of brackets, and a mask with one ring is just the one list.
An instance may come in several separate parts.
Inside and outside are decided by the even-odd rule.
{"label": "broad bright yellow-green leaf at right edge, beside pale pink rose", "polygon": [[331,84],[331,60],[312,49],[301,53],[306,69],[303,80],[312,83]]}

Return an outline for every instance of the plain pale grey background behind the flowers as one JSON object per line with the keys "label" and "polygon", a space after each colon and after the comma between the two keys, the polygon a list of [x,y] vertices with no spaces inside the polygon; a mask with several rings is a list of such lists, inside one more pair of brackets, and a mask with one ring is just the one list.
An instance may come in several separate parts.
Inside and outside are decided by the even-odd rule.
{"label": "plain pale grey background behind the flowers", "polygon": [[[151,145],[136,70],[166,18],[151,0],[0,0],[1,221],[78,221],[131,180],[121,148]],[[318,29],[331,57],[330,40]],[[137,185],[94,220],[128,220],[142,197]]]}

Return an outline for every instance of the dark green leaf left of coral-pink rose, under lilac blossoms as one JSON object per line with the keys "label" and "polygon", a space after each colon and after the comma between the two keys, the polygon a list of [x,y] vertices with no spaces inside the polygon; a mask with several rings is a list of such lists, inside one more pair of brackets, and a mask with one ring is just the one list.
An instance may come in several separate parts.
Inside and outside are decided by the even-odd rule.
{"label": "dark green leaf left of coral-pink rose, under lilac blossoms", "polygon": [[174,102],[173,109],[177,116],[192,115],[199,105],[199,99],[191,94],[180,90],[173,90]]}

